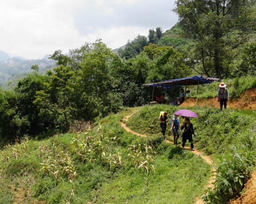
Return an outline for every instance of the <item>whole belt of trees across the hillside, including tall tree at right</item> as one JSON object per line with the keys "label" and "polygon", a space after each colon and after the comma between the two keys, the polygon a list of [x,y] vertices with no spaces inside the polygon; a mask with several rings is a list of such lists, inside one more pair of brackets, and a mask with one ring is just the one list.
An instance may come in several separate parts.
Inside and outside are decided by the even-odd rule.
{"label": "whole belt of trees across the hillside, including tall tree at right", "polygon": [[254,1],[176,4],[180,22],[165,33],[150,29],[147,37],[138,35],[117,53],[100,39],[69,55],[56,50],[49,57],[56,68],[41,74],[33,65],[16,86],[0,88],[0,137],[65,132],[74,120],[97,121],[124,106],[146,104],[152,89],[144,83],[196,74],[255,74]]}

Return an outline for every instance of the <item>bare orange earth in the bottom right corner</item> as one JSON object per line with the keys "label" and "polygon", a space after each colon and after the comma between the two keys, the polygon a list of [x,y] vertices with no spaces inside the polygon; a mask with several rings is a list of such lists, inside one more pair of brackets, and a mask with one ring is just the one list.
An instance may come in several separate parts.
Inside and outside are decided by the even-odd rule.
{"label": "bare orange earth in the bottom right corner", "polygon": [[231,201],[230,204],[256,204],[256,171],[245,184],[244,193],[240,198]]}

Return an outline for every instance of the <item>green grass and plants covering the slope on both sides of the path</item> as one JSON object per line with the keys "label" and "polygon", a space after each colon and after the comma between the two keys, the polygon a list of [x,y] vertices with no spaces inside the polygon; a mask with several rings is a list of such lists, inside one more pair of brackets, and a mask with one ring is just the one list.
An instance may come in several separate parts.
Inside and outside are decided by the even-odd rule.
{"label": "green grass and plants covering the slope on both sides of the path", "polygon": [[[204,199],[225,203],[239,195],[255,166],[256,115],[192,109],[199,115],[191,119],[195,147],[212,155],[217,164],[215,188]],[[120,125],[134,111],[128,109],[103,118],[84,133],[6,146],[0,154],[0,203],[194,203],[203,193],[210,166],[163,142],[157,121],[162,110],[171,116],[177,108],[145,106],[127,122],[146,138]],[[169,126],[167,135],[171,139]]]}

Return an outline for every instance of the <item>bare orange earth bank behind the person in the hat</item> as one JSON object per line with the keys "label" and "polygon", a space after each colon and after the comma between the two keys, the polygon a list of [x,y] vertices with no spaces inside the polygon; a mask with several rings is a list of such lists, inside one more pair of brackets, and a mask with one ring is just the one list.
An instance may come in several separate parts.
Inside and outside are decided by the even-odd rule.
{"label": "bare orange earth bank behind the person in the hat", "polygon": [[[187,98],[181,106],[189,107],[194,105],[219,108],[217,97],[209,99]],[[228,108],[256,110],[256,88],[245,91],[239,99],[228,101]]]}

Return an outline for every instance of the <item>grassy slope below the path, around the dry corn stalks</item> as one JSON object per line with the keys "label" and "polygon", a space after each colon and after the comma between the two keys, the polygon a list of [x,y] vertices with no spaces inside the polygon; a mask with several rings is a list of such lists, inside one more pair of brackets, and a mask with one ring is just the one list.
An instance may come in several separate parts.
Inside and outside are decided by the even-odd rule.
{"label": "grassy slope below the path, around the dry corn stalks", "polygon": [[[0,203],[39,203],[40,200],[46,203],[193,203],[207,183],[209,165],[190,152],[162,142],[157,136],[140,138],[125,132],[119,121],[131,111],[129,109],[102,119],[101,130],[97,132],[97,125],[89,135],[96,139],[101,134],[105,138],[120,137],[117,147],[111,143],[108,151],[121,152],[124,161],[131,144],[153,143],[157,152],[155,173],[147,175],[144,170],[134,170],[126,162],[123,167],[112,170],[97,160],[82,165],[77,153],[71,153],[70,142],[76,136],[73,133],[44,140],[28,140],[23,143],[25,146],[16,145],[0,152],[0,185],[3,186]],[[39,163],[43,162],[47,150],[52,148],[51,143],[63,147],[72,155],[77,171],[74,196],[71,196],[72,184],[66,175],[62,173],[63,181],[59,179],[55,182],[53,176],[43,176],[40,171],[42,166]],[[15,154],[17,159],[13,157]]]}

